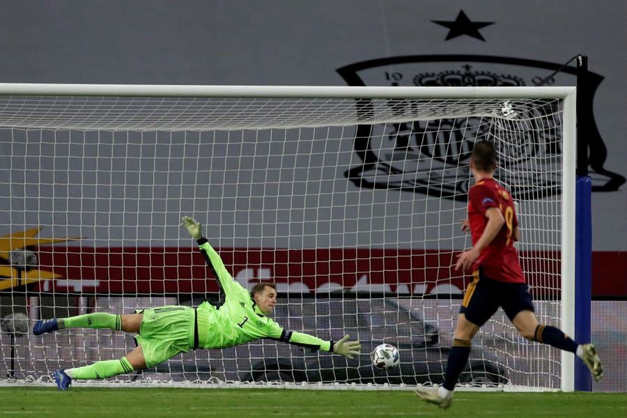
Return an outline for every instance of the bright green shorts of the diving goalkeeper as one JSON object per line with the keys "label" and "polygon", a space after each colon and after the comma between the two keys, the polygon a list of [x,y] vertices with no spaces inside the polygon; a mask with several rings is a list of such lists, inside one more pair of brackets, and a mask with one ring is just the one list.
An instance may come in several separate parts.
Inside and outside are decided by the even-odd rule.
{"label": "bright green shorts of the diving goalkeeper", "polygon": [[135,340],[144,351],[146,367],[156,366],[194,347],[194,308],[161,307],[135,312],[144,314]]}

